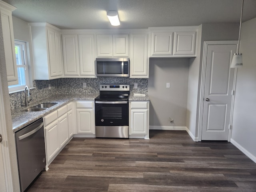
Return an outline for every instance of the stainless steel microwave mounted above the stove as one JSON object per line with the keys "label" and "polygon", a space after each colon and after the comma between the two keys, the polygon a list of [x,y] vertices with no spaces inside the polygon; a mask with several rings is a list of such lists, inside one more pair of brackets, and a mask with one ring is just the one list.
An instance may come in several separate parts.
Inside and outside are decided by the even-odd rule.
{"label": "stainless steel microwave mounted above the stove", "polygon": [[129,77],[129,58],[96,58],[98,77]]}

